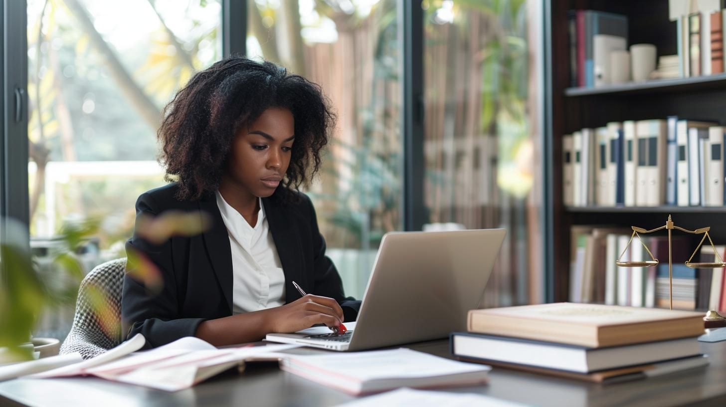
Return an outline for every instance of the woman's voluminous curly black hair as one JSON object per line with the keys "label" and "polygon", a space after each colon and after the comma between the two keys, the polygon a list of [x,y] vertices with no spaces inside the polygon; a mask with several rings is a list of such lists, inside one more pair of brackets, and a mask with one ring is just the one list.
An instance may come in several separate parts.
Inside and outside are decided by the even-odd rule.
{"label": "woman's voluminous curly black hair", "polygon": [[195,74],[163,110],[159,161],[166,180],[179,183],[176,198],[197,200],[219,188],[234,135],[268,108],[286,108],[295,118],[282,187],[298,190],[308,182],[335,127],[330,101],[319,85],[285,68],[232,56]]}

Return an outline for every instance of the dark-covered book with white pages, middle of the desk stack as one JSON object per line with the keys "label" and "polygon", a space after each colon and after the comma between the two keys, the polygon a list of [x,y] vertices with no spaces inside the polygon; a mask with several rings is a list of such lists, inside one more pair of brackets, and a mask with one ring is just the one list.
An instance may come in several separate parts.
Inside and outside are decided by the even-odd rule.
{"label": "dark-covered book with white pages, middle of the desk stack", "polygon": [[701,353],[696,337],[629,344],[583,347],[494,335],[453,332],[452,355],[519,365],[591,373],[695,356]]}

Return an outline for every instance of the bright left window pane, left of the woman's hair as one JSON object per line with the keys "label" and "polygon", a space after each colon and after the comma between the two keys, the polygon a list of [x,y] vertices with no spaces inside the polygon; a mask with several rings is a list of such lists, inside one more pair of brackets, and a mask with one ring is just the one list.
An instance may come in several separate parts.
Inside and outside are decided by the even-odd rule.
{"label": "bright left window pane, left of the woman's hair", "polygon": [[[30,244],[47,273],[68,222],[95,219],[86,272],[125,256],[136,198],[165,183],[161,110],[221,58],[220,1],[28,0]],[[62,339],[73,307],[57,312],[40,330]]]}

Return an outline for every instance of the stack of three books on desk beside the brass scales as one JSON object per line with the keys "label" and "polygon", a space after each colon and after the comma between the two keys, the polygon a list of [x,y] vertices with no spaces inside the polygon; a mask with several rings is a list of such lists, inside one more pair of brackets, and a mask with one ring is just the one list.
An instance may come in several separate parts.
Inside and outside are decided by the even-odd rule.
{"label": "stack of three books on desk beside the brass scales", "polygon": [[705,366],[703,314],[570,302],[471,310],[451,334],[460,360],[619,382]]}

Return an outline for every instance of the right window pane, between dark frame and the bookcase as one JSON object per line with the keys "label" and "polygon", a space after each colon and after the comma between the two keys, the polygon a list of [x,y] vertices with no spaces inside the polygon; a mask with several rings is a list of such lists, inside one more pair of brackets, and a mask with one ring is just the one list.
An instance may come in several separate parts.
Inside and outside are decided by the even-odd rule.
{"label": "right window pane, between dark frame and the bookcase", "polygon": [[488,306],[544,300],[540,3],[422,2],[428,221],[507,229]]}

